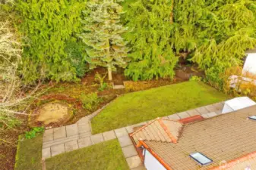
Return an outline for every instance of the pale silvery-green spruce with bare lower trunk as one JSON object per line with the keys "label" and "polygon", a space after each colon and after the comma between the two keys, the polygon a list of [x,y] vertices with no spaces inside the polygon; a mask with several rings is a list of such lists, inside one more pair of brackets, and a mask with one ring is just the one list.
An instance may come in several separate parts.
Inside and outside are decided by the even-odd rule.
{"label": "pale silvery-green spruce with bare lower trunk", "polygon": [[86,45],[87,62],[90,68],[104,66],[108,69],[109,80],[115,66],[127,64],[127,48],[122,39],[126,28],[120,23],[123,13],[119,0],[98,0],[87,3],[84,11],[84,32],[81,39]]}

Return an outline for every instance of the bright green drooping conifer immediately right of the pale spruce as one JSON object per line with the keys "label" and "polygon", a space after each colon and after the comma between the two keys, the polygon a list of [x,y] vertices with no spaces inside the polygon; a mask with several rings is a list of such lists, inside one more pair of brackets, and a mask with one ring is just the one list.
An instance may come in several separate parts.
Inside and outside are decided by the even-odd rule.
{"label": "bright green drooping conifer immediately right of the pale spruce", "polygon": [[174,76],[178,58],[172,52],[172,2],[138,0],[129,5],[125,24],[131,31],[125,39],[131,46],[131,63],[125,75],[134,80]]}

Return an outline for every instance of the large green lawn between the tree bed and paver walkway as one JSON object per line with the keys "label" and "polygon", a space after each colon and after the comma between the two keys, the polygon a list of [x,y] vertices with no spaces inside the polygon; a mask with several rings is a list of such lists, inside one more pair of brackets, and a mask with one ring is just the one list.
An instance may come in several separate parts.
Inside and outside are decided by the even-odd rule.
{"label": "large green lawn between the tree bed and paver walkway", "polygon": [[122,128],[226,100],[226,94],[202,82],[182,82],[118,97],[92,120],[93,134]]}

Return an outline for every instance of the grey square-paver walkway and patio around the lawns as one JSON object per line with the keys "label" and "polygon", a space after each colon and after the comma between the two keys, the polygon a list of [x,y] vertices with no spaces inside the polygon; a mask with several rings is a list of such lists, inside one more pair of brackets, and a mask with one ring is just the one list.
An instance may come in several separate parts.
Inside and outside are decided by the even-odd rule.
{"label": "grey square-paver walkway and patio around the lawns", "polygon": [[[172,114],[170,116],[166,116],[165,118],[184,119],[195,115],[201,115],[204,118],[210,118],[219,115],[223,109],[223,105],[224,102],[210,104],[205,107],[196,108],[194,110]],[[128,162],[130,169],[145,169],[128,134],[132,133],[134,128],[145,125],[150,121],[141,122],[136,125],[130,125],[112,131],[106,131],[100,134],[91,134],[90,119],[93,119],[93,117],[100,113],[100,111],[105,107],[97,110],[90,116],[85,116],[73,125],[66,125],[59,128],[46,130],[43,134],[42,157],[46,159],[52,156],[56,156],[60,153],[77,150],[83,147],[89,147],[93,144],[99,144],[103,141],[109,141],[117,138],[119,140],[120,146],[122,147],[122,152],[126,161]]]}

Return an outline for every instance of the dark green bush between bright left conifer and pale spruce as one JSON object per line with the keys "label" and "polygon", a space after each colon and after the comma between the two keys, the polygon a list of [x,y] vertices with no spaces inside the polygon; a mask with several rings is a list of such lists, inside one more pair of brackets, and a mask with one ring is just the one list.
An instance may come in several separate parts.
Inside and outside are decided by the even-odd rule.
{"label": "dark green bush between bright left conifer and pale spruce", "polygon": [[75,68],[77,77],[82,77],[88,71],[88,66],[85,62],[86,54],[83,51],[81,42],[70,40],[66,42],[65,53],[68,54],[68,60],[71,66]]}

